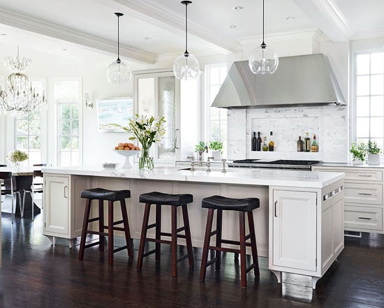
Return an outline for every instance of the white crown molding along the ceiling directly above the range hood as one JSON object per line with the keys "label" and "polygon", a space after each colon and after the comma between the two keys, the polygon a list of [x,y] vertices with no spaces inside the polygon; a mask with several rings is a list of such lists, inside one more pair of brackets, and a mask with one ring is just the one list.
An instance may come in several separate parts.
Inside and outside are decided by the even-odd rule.
{"label": "white crown molding along the ceiling directly above the range hood", "polygon": [[[290,32],[282,32],[276,34],[267,34],[265,36],[265,41],[290,41],[300,38],[314,38],[316,36],[318,29],[308,29],[302,31],[290,31]],[[261,43],[263,41],[263,36],[246,36],[244,38],[240,38],[239,42],[242,45],[254,45],[256,43]]]}

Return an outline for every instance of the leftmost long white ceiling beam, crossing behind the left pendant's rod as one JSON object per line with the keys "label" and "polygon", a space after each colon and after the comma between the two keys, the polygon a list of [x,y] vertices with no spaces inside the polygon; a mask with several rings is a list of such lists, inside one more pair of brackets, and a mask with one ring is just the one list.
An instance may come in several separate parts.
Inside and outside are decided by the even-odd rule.
{"label": "leftmost long white ceiling beam, crossing behind the left pendant's rod", "polygon": [[[65,27],[58,26],[49,22],[43,22],[36,18],[28,17],[26,15],[14,13],[10,10],[0,8],[0,23],[6,24],[10,27],[31,31],[44,36],[58,38],[63,41],[75,43],[85,47],[91,47],[103,52],[111,54],[117,53],[117,43],[84,34],[80,31],[75,31]],[[120,55],[132,61],[141,62],[145,64],[154,64],[156,62],[156,55],[138,50],[126,45],[120,44]]]}

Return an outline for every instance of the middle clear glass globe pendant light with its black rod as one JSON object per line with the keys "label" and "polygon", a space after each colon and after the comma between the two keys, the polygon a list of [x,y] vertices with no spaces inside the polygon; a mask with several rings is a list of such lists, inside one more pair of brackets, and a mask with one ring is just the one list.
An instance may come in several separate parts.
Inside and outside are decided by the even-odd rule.
{"label": "middle clear glass globe pendant light with its black rod", "polygon": [[198,77],[200,73],[198,59],[188,52],[187,7],[192,1],[182,1],[181,3],[185,6],[185,52],[175,59],[173,73],[177,79],[192,80]]}

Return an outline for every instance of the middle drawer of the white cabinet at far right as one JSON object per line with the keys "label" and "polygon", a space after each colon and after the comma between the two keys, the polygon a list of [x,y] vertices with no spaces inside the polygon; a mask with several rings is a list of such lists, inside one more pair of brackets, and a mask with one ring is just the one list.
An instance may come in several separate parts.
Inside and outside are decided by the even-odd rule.
{"label": "middle drawer of the white cabinet at far right", "polygon": [[346,203],[383,204],[383,184],[344,184]]}

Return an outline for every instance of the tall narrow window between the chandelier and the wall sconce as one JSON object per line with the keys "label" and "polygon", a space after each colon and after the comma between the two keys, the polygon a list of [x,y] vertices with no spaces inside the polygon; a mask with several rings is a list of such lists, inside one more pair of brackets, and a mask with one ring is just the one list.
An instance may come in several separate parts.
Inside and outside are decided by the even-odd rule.
{"label": "tall narrow window between the chandelier and the wall sconce", "polygon": [[54,83],[54,101],[59,112],[59,166],[78,166],[79,153],[79,101],[78,80]]}

